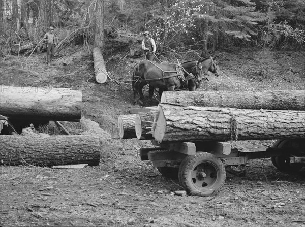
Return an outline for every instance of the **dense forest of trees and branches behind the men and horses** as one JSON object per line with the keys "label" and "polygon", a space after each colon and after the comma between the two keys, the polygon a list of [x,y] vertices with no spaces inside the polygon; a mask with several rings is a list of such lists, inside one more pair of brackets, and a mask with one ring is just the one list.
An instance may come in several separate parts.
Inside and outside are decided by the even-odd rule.
{"label": "dense forest of trees and branches behind the men and horses", "polygon": [[299,50],[305,40],[303,0],[1,0],[0,6],[2,56],[36,47],[50,26],[62,28],[59,41],[78,29],[74,44],[102,49],[110,39],[130,46],[120,34],[148,30],[164,54],[245,46]]}

